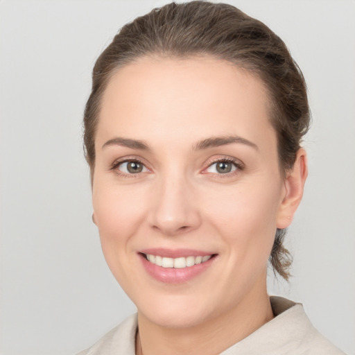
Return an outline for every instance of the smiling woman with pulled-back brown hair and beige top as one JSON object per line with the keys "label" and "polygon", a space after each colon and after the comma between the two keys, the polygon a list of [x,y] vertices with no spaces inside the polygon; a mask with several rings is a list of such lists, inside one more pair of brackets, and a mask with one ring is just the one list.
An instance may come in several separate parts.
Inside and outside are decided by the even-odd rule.
{"label": "smiling woman with pulled-back brown hair and beige top", "polygon": [[225,4],[153,10],[98,58],[84,120],[93,220],[138,312],[80,354],[343,354],[266,290],[307,175],[277,35]]}

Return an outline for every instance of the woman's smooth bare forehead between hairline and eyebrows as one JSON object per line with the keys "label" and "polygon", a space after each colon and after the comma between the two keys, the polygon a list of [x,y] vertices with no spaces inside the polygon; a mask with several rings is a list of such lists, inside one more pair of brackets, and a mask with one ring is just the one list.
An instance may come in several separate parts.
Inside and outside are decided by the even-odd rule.
{"label": "woman's smooth bare forehead between hairline and eyebrows", "polygon": [[263,82],[230,62],[145,57],[110,79],[97,138],[109,139],[114,132],[137,139],[148,133],[151,139],[184,139],[195,132],[196,139],[230,134],[257,139],[271,128],[268,107]]}

